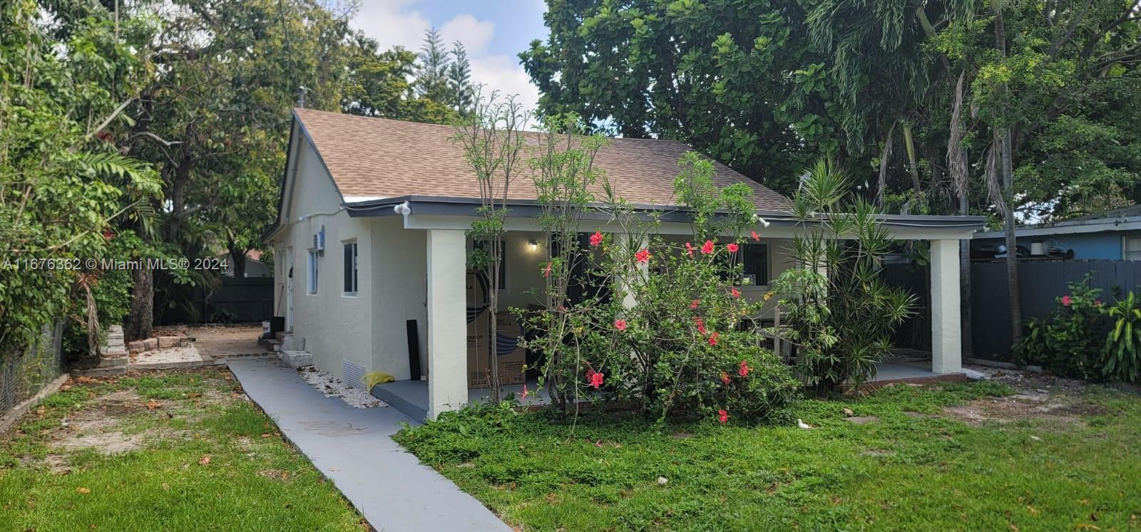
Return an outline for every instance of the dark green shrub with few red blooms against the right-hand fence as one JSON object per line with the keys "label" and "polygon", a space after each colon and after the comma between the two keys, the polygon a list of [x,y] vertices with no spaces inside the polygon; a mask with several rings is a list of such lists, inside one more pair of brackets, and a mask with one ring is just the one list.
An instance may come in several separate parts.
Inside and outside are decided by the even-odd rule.
{"label": "dark green shrub with few red blooms against the right-hand fence", "polygon": [[1101,289],[1090,287],[1090,276],[1070,283],[1069,294],[1055,298],[1046,319],[1031,319],[1026,334],[1014,345],[1014,361],[1041,363],[1067,377],[1100,380],[1104,377],[1102,350],[1109,319],[1101,303]]}

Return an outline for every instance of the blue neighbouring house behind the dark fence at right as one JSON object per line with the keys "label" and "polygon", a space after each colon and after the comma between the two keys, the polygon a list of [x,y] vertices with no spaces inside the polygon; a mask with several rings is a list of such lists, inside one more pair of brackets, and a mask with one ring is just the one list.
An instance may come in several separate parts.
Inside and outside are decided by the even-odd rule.
{"label": "blue neighbouring house behind the dark fence at right", "polygon": [[[1055,223],[1014,228],[1021,255],[1141,261],[1141,205]],[[971,255],[990,257],[1005,244],[1003,231],[976,232]]]}

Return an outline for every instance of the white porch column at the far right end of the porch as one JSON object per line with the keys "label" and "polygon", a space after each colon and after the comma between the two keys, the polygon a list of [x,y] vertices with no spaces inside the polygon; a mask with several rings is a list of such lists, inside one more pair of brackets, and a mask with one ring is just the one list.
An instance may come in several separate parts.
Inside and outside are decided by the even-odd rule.
{"label": "white porch column at the far right end of the porch", "polygon": [[963,370],[958,240],[931,240],[931,371]]}

